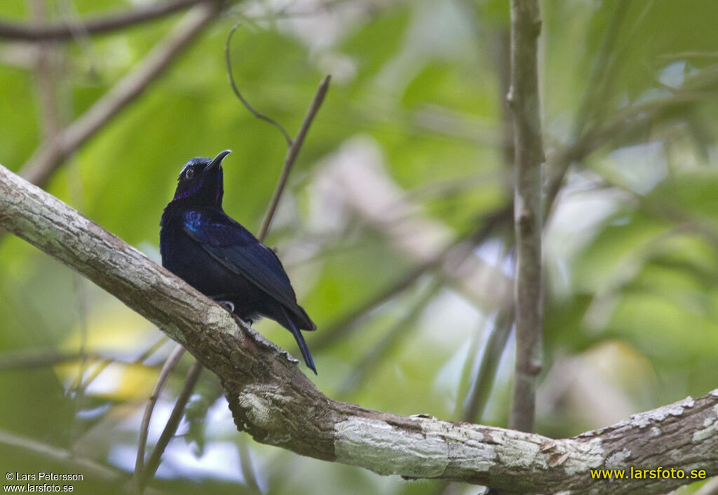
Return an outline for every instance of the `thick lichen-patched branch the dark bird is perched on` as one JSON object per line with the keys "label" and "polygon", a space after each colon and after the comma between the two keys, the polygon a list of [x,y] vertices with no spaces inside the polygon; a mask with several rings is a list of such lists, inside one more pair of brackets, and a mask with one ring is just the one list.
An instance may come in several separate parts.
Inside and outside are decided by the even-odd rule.
{"label": "thick lichen-patched branch the dark bird is perched on", "polygon": [[595,432],[541,435],[404,417],[336,402],[297,361],[144,254],[0,166],[0,227],[118,297],[217,374],[239,430],[326,461],[515,492],[658,493],[684,479],[609,483],[591,468],[661,466],[718,474],[718,390]]}

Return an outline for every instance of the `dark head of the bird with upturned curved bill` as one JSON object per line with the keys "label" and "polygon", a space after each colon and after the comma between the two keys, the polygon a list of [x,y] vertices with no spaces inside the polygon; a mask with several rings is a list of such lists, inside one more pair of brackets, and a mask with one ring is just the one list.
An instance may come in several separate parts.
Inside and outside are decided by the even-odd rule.
{"label": "dark head of the bird with upturned curved bill", "polygon": [[225,149],[214,158],[197,157],[185,163],[177,177],[173,201],[221,206],[224,194],[222,160],[230,153],[230,149]]}

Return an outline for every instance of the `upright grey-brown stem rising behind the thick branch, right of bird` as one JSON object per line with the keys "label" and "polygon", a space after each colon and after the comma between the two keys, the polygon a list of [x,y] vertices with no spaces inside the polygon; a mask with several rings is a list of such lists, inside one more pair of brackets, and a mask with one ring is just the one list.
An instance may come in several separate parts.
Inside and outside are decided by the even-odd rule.
{"label": "upright grey-brown stem rising behind the thick branch, right of bird", "polygon": [[511,0],[511,88],[516,182],[516,374],[509,426],[531,432],[536,376],[541,371],[541,116],[536,45],[541,32],[538,0]]}

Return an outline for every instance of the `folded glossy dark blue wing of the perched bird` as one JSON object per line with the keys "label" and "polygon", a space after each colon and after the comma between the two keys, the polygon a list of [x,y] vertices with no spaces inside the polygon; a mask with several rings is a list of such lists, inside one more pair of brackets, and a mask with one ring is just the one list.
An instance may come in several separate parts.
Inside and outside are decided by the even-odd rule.
{"label": "folded glossy dark blue wing of the perched bird", "polygon": [[246,277],[282,305],[294,309],[297,296],[274,251],[220,211],[185,213],[185,232],[231,272]]}

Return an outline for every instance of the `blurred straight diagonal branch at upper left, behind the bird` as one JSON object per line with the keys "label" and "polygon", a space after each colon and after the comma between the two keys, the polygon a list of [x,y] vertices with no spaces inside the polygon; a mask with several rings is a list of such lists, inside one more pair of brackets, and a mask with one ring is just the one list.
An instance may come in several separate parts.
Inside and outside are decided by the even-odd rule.
{"label": "blurred straight diagonal branch at upper left, behind the bird", "polygon": [[172,60],[218,16],[221,9],[222,4],[211,1],[197,5],[188,12],[131,73],[118,81],[54,140],[43,142],[23,165],[20,175],[35,185],[45,185],[65,158],[93,137],[108,121],[141,95],[150,83],[159,78]]}

